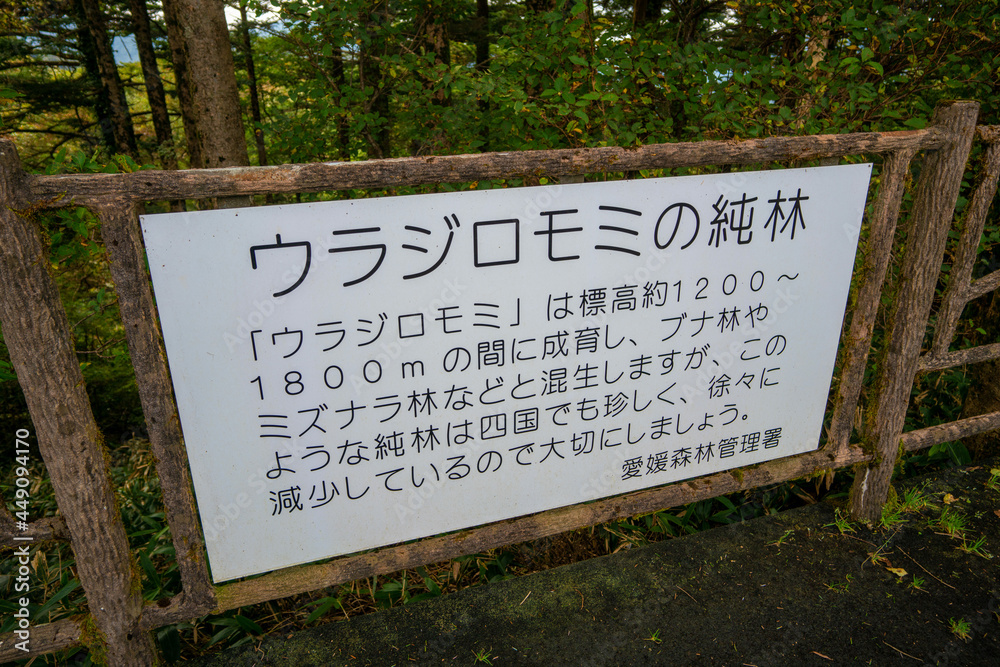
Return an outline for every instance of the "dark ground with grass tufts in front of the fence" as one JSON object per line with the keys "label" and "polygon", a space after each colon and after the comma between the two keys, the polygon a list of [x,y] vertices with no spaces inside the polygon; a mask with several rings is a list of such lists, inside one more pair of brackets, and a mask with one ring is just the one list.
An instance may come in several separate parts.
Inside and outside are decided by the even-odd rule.
{"label": "dark ground with grass tufts in front of the fence", "polygon": [[997,467],[900,484],[933,506],[889,528],[812,505],[193,664],[1000,665]]}

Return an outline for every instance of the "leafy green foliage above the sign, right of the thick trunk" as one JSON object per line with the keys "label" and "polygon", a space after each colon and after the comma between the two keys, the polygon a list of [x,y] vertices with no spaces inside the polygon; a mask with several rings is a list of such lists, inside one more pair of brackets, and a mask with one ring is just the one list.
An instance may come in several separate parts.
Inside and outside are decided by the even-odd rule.
{"label": "leafy green foliage above the sign, right of the thick trunk", "polygon": [[940,100],[997,99],[996,0],[747,0],[638,32],[610,4],[493,2],[479,66],[475,4],[433,7],[283,4],[282,29],[255,47],[269,151],[298,162],[912,129]]}

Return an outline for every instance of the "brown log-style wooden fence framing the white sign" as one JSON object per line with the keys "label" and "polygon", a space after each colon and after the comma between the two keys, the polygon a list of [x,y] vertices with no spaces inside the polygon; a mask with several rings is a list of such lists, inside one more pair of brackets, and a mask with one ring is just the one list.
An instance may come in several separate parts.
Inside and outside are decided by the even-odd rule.
{"label": "brown log-style wooden fence framing the white sign", "polygon": [[[974,102],[942,105],[930,127],[908,132],[130,174],[26,175],[13,144],[0,140],[0,322],[60,509],[59,516],[35,521],[22,532],[14,530],[5,505],[0,544],[4,548],[24,544],[15,542],[15,536],[32,537],[34,544],[69,540],[89,605],[84,619],[33,627],[30,654],[13,648],[13,636],[0,637],[0,659],[83,643],[96,649],[95,655],[106,655],[109,664],[157,664],[151,631],[163,625],[845,466],[856,467],[852,513],[860,519],[877,519],[901,447],[915,450],[1000,428],[1000,412],[994,412],[903,433],[918,372],[1000,358],[1000,343],[949,351],[965,303],[1000,286],[1000,271],[971,280],[1000,169],[1000,127],[977,128],[978,109]],[[921,354],[960,184],[977,137],[984,144],[981,178],[963,217],[933,344]],[[905,247],[897,248],[900,205],[911,162],[918,154],[919,176]],[[211,583],[145,270],[137,218],[142,202],[525,175],[568,178],[640,169],[802,164],[852,155],[878,156],[881,165],[859,250],[864,264],[854,276],[856,299],[841,338],[831,426],[820,449],[738,473],[718,473],[250,580]],[[38,229],[31,222],[34,211],[68,206],[85,206],[100,220],[183,585],[183,592],[169,599],[143,601],[136,556],[119,516],[66,311],[47,271],[49,260]],[[872,365],[868,353],[883,283],[892,258],[900,254],[902,279],[886,287],[892,290],[892,307],[885,314],[885,345],[880,358],[872,362],[877,379],[859,405],[865,370]]]}

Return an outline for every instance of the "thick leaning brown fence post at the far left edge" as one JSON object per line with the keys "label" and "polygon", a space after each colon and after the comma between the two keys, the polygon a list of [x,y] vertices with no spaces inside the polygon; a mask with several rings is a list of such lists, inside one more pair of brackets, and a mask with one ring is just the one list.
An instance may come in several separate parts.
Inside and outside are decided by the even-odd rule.
{"label": "thick leaning brown fence post at the far left edge", "polygon": [[112,665],[157,664],[152,635],[139,628],[142,585],[66,310],[37,230],[15,212],[24,179],[13,142],[0,140],[0,322],[96,623],[84,634]]}

